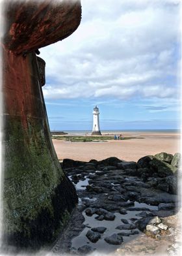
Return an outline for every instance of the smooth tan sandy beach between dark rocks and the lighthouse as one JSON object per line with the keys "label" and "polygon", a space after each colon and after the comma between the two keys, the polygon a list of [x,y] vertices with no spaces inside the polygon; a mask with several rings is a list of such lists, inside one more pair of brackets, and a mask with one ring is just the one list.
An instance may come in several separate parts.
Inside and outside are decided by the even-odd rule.
{"label": "smooth tan sandy beach between dark rocks and the lighthouse", "polygon": [[70,158],[79,161],[90,161],[91,159],[101,160],[107,157],[118,157],[125,161],[138,161],[140,157],[145,155],[155,155],[160,152],[174,154],[180,151],[179,133],[122,134],[138,138],[109,140],[107,142],[66,142],[53,139],[53,144],[60,160]]}

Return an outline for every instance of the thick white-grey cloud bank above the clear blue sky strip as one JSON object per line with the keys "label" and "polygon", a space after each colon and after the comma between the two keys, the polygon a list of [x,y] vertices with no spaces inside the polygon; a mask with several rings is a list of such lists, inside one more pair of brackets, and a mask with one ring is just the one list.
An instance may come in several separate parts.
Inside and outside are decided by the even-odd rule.
{"label": "thick white-grey cloud bank above the clear blue sky strip", "polygon": [[82,1],[68,39],[40,50],[45,99],[176,97],[179,1]]}

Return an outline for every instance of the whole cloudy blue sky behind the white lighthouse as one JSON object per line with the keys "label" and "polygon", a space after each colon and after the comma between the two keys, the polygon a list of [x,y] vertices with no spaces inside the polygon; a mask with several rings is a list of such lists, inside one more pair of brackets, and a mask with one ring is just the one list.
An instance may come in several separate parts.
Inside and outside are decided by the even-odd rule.
{"label": "whole cloudy blue sky behind the white lighthouse", "polygon": [[82,0],[67,39],[40,49],[51,131],[179,129],[180,0]]}

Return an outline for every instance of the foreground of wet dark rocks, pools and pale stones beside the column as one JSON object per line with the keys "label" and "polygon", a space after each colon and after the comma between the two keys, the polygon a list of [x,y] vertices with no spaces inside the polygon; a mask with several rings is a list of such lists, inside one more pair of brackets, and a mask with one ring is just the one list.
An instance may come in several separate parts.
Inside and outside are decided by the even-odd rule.
{"label": "foreground of wet dark rocks, pools and pale stones beside the column", "polygon": [[125,162],[64,159],[79,205],[54,253],[177,255],[181,197],[180,154],[159,153]]}

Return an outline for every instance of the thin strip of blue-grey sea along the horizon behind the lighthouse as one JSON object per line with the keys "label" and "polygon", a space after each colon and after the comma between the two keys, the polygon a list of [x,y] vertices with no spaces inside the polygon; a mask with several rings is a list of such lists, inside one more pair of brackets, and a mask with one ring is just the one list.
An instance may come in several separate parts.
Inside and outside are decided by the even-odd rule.
{"label": "thin strip of blue-grey sea along the horizon behind the lighthouse", "polygon": [[[52,131],[55,132],[56,130]],[[60,132],[60,131],[56,131]],[[71,134],[86,134],[92,133],[91,130],[83,130],[83,131],[64,131],[64,133],[71,133]],[[101,133],[180,133],[178,129],[153,129],[153,130],[101,130]]]}

